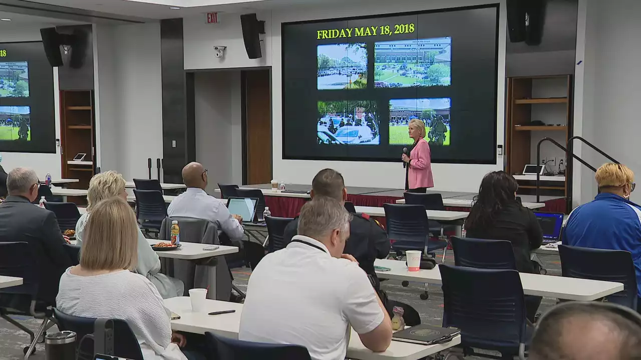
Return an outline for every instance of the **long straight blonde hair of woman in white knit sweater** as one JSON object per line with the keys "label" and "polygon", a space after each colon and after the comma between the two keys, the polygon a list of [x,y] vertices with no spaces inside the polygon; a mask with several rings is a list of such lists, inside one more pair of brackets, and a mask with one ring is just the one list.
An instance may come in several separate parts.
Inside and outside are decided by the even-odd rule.
{"label": "long straight blonde hair of woman in white knit sweater", "polygon": [[87,270],[131,270],[138,261],[136,216],[119,197],[94,206],[85,225],[80,266]]}

